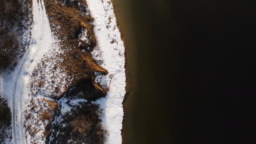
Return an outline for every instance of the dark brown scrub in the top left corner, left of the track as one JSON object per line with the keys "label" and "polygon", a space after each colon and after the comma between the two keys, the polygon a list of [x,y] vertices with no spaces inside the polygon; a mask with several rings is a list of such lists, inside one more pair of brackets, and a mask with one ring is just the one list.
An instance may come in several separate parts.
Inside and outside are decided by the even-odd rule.
{"label": "dark brown scrub in the top left corner, left of the track", "polygon": [[[22,20],[27,19],[31,0],[1,0],[0,3],[0,69],[15,64],[16,55],[24,51],[20,46]],[[26,9],[22,5],[26,5]],[[23,9],[22,9],[23,8]],[[14,29],[14,27],[16,27]]]}

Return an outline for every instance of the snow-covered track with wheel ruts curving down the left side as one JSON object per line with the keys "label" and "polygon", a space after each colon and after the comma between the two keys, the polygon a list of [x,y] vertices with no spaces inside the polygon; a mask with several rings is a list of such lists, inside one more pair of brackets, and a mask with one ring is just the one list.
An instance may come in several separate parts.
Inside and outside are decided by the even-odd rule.
{"label": "snow-covered track with wheel ruts curving down the left side", "polygon": [[29,97],[29,77],[43,55],[54,45],[43,0],[33,0],[32,39],[27,53],[9,74],[1,78],[1,91],[12,112],[13,144],[27,144],[24,133],[24,103]]}

